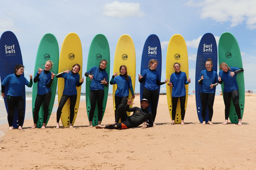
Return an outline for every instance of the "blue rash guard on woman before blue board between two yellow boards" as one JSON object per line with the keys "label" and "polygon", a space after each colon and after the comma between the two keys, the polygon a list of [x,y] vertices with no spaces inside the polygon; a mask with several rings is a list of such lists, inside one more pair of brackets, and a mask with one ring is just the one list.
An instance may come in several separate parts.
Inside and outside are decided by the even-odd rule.
{"label": "blue rash guard on woman before blue board between two yellow boards", "polygon": [[142,78],[145,79],[145,88],[154,91],[158,89],[157,81],[161,81],[159,72],[156,70],[146,69],[142,72]]}

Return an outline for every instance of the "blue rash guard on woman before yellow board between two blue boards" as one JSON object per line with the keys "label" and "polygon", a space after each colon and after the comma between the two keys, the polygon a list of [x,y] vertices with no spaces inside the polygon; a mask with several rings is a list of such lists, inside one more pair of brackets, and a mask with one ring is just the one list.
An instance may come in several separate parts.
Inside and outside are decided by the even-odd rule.
{"label": "blue rash guard on woman before yellow board between two blue boards", "polygon": [[186,95],[185,84],[188,84],[187,75],[185,72],[174,72],[171,75],[170,82],[173,85],[172,97],[181,97]]}

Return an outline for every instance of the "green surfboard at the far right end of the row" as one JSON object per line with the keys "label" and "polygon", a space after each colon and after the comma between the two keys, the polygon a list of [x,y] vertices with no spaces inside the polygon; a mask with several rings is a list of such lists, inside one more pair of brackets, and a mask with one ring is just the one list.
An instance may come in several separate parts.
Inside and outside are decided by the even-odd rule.
{"label": "green surfboard at the far right end of the row", "polygon": [[[243,62],[241,52],[237,43],[236,38],[230,32],[224,32],[220,36],[219,48],[218,48],[219,64],[225,62],[229,67],[243,68]],[[239,91],[239,105],[241,108],[241,117],[244,113],[244,99],[245,99],[245,88],[244,88],[244,73],[238,73],[236,77],[238,91]],[[223,93],[224,83],[221,84]],[[233,102],[231,101],[229,120],[231,123],[238,123],[238,117],[235,111]]]}

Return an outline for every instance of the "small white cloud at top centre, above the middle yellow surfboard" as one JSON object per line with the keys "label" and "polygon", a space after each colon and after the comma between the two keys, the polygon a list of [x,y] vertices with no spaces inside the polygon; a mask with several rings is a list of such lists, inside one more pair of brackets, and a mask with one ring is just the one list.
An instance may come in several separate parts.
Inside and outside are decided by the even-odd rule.
{"label": "small white cloud at top centre, above the middle yellow surfboard", "polygon": [[117,18],[127,18],[132,16],[145,16],[145,13],[140,11],[139,3],[125,3],[115,1],[113,3],[107,3],[103,7],[103,15]]}

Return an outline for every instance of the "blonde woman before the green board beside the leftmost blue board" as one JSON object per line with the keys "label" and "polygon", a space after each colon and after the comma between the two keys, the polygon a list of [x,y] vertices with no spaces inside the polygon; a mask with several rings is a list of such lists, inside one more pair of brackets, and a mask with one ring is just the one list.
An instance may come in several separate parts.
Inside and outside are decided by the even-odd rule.
{"label": "blonde woman before the green board beside the leftmost blue board", "polygon": [[37,83],[37,96],[35,101],[35,111],[34,111],[34,126],[31,129],[35,129],[38,121],[38,113],[40,110],[41,105],[44,102],[44,116],[43,116],[43,126],[41,129],[45,129],[47,117],[48,117],[48,108],[50,104],[50,98],[51,98],[51,86],[52,81],[55,76],[54,73],[50,72],[50,69],[52,68],[53,63],[52,61],[48,60],[46,61],[44,65],[44,70],[41,68],[38,68],[38,71],[36,72],[34,83]]}

